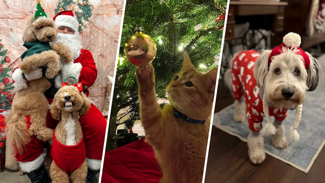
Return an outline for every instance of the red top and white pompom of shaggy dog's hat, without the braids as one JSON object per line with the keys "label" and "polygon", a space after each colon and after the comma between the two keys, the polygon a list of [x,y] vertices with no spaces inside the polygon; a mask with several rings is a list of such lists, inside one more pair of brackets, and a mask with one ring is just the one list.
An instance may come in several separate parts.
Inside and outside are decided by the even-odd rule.
{"label": "red top and white pompom of shaggy dog's hat, without the braids", "polygon": [[283,47],[287,47],[289,49],[298,49],[299,51],[297,51],[295,54],[297,55],[301,55],[302,61],[305,64],[305,69],[309,68],[310,65],[310,59],[308,57],[308,55],[305,53],[305,51],[303,51],[299,46],[301,44],[301,37],[299,34],[296,33],[288,33],[287,35],[285,35],[283,37],[283,43],[278,46],[275,47],[274,49],[272,49],[272,52],[268,58],[268,69],[270,68],[270,64],[272,62],[272,57],[277,56],[281,53],[283,53]]}

